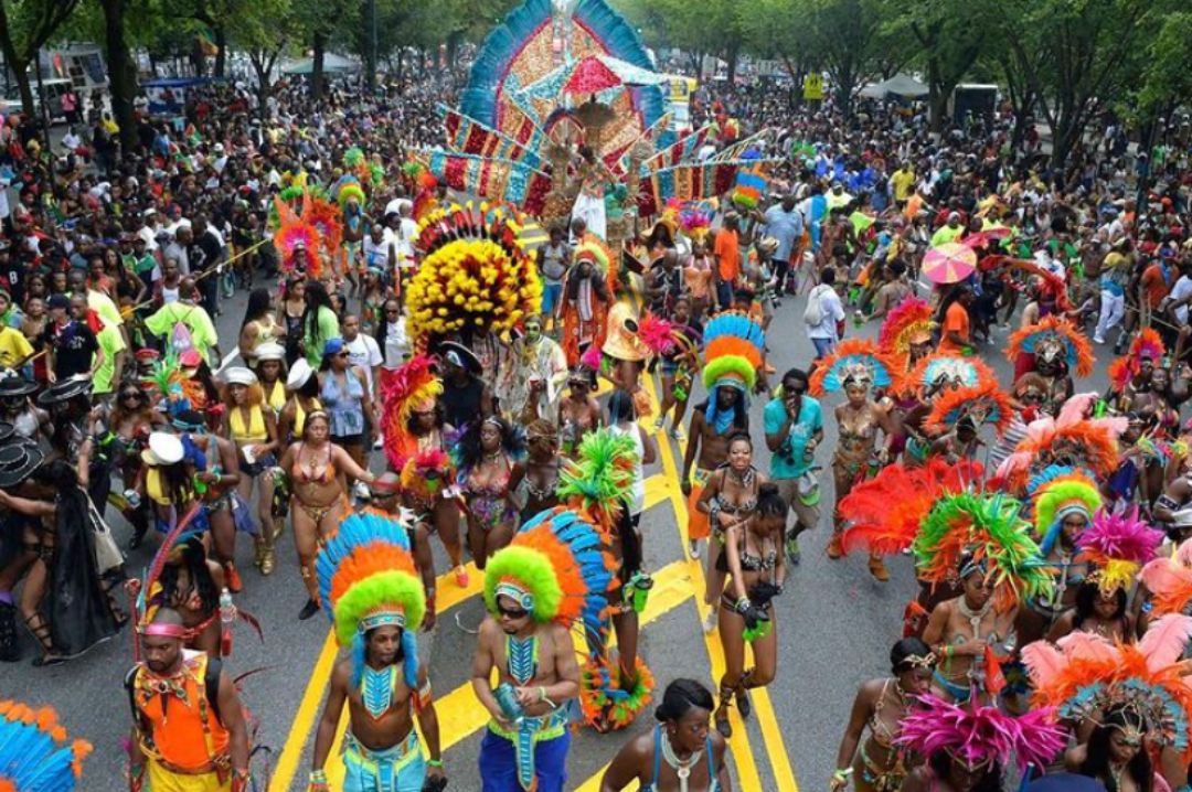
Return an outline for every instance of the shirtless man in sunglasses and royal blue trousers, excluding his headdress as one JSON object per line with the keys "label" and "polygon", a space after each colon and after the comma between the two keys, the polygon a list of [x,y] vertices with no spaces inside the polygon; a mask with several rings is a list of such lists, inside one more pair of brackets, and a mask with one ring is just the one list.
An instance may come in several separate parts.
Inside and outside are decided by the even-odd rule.
{"label": "shirtless man in sunglasses and royal blue trousers, excluding his headdress", "polygon": [[[472,690],[492,716],[480,743],[483,791],[521,792],[536,781],[536,792],[563,792],[571,746],[572,707],[566,705],[579,696],[571,632],[559,623],[534,618],[528,587],[502,580],[495,591],[496,613],[480,623],[472,660]],[[511,686],[523,712],[517,723],[497,699],[493,668],[499,682]],[[527,738],[533,744],[529,752],[521,749]]]}

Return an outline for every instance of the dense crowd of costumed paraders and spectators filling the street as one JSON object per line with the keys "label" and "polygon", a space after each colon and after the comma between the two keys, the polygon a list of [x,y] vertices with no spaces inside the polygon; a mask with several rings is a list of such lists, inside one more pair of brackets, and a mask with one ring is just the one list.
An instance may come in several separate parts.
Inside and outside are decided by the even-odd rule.
{"label": "dense crowd of costumed paraders and spectators filling the street", "polygon": [[[759,197],[669,207],[625,250],[576,217],[530,250],[411,156],[453,86],[212,87],[132,149],[101,110],[49,148],[7,121],[0,660],[21,625],[41,667],[136,629],[130,788],[249,788],[234,595],[274,574],[348,649],[309,788],[333,788],[344,705],[342,788],[443,788],[416,640],[436,587],[479,574],[484,788],[563,790],[570,724],[623,728],[656,684],[640,522],[670,441],[725,672],[659,679],[602,790],[732,788],[730,710],[784,671],[817,529],[879,581],[913,555],[920,587],[890,676],[839,713],[833,790],[992,790],[1010,765],[1187,787],[1186,139],[1142,151],[1106,117],[1054,167],[1005,113],[933,136],[913,107],[701,92],[697,120],[744,127],[713,152],[764,131]],[[466,256],[479,286],[453,280]],[[457,320],[473,306],[491,320]],[[777,370],[766,338],[791,333],[812,351]]]}

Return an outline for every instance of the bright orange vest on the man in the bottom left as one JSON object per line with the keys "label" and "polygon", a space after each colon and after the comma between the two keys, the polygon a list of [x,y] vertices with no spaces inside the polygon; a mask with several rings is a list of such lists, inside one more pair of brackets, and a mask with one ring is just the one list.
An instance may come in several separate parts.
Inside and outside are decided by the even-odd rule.
{"label": "bright orange vest on the man in the bottom left", "polygon": [[210,703],[201,707],[211,732],[210,736],[204,735],[199,699],[206,699],[207,655],[188,649],[184,651],[181,682],[186,699],[169,694],[164,710],[162,694],[151,687],[153,674],[143,666],[137,669],[132,696],[137,710],[150,724],[150,734],[141,736],[141,750],[178,768],[207,772],[203,768],[216,756],[228,753],[230,737],[216,719]]}

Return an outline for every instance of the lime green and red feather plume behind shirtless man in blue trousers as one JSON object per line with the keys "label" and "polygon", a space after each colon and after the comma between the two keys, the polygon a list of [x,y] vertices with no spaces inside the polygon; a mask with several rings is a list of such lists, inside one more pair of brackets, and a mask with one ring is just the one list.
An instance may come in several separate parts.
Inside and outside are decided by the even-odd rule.
{"label": "lime green and red feather plume behind shirtless man in blue trousers", "polygon": [[633,486],[638,448],[628,435],[609,429],[588,432],[576,460],[559,472],[559,499],[606,532],[620,518],[623,499]]}

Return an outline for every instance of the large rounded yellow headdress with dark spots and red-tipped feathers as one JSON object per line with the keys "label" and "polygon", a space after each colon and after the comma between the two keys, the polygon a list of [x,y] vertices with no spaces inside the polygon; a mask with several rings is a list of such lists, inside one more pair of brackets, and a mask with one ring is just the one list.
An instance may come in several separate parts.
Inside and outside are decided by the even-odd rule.
{"label": "large rounded yellow headdress with dark spots and red-tipped feathers", "polygon": [[542,281],[503,207],[454,206],[418,236],[423,252],[406,287],[410,335],[424,347],[453,332],[503,333],[538,313]]}

